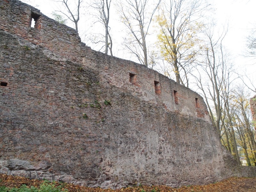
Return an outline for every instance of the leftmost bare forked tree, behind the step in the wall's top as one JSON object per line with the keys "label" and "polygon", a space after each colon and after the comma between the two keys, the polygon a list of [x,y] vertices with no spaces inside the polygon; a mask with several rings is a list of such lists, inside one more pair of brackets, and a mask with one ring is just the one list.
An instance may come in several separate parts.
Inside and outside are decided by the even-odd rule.
{"label": "leftmost bare forked tree, behind the step in the wall's top", "polygon": [[68,17],[69,20],[71,20],[74,24],[75,24],[75,29],[76,31],[78,31],[78,21],[80,19],[80,7],[81,7],[81,3],[83,2],[83,0],[77,0],[77,3],[75,2],[76,6],[75,9],[72,9],[71,7],[73,7],[68,0],[54,0],[57,3],[61,3],[65,9],[68,11],[68,13],[61,11],[61,10],[57,10],[58,12],[61,12],[62,14],[66,15]]}

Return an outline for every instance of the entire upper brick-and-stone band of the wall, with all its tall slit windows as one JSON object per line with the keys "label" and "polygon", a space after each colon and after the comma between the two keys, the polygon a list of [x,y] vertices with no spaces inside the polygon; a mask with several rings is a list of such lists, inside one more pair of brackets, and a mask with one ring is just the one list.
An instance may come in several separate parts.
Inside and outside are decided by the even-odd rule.
{"label": "entire upper brick-and-stone band of the wall, with all its tall slit windows", "polygon": [[[84,44],[81,44],[80,37],[74,29],[57,23],[44,16],[34,7],[21,2],[14,4],[10,1],[9,3],[2,2],[2,4],[2,6],[6,6],[2,9],[1,28],[23,37],[32,44],[44,46],[48,49],[45,51],[47,57],[52,57],[54,53],[58,53],[59,58],[56,58],[56,60],[65,61],[68,58],[71,61],[79,62],[83,59],[85,66],[89,68],[96,67],[102,71],[101,74],[106,81],[117,87],[126,88],[140,94],[140,98],[143,100],[162,104],[171,111],[192,116],[198,115],[198,117],[204,117],[210,122],[204,100],[197,93],[175,84],[173,80],[152,69],[131,61],[119,58],[113,60],[113,58],[107,56],[102,62],[99,62],[95,55],[102,58],[102,53],[83,46]],[[30,27],[32,17],[36,18],[35,28]],[[82,54],[81,47],[84,51]],[[91,56],[92,58],[90,58]],[[94,60],[96,63],[93,63]],[[120,70],[120,68],[123,70]],[[129,73],[136,75],[136,82],[133,86],[129,82]],[[155,81],[159,82],[160,91],[158,94],[155,92]],[[176,91],[176,103],[178,104],[174,101],[174,91]]]}

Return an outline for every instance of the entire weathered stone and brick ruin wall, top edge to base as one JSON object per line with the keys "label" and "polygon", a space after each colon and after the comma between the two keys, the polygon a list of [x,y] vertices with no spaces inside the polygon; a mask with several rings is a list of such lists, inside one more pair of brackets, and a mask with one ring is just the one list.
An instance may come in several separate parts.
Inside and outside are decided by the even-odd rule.
{"label": "entire weathered stone and brick ruin wall, top edge to base", "polygon": [[34,7],[0,0],[0,47],[1,173],[104,188],[256,175],[221,146],[200,95]]}

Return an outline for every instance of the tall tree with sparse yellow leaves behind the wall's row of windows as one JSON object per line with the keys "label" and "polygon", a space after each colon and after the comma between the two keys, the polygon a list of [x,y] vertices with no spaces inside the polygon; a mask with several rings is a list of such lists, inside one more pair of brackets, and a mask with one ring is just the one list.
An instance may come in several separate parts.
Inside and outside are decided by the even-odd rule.
{"label": "tall tree with sparse yellow leaves behind the wall's row of windows", "polygon": [[[176,82],[188,86],[187,74],[200,49],[199,46],[194,49],[200,43],[197,33],[203,26],[199,19],[208,10],[209,4],[204,0],[170,0],[159,7],[157,45],[164,59],[172,65]],[[183,80],[181,72],[185,77]]]}

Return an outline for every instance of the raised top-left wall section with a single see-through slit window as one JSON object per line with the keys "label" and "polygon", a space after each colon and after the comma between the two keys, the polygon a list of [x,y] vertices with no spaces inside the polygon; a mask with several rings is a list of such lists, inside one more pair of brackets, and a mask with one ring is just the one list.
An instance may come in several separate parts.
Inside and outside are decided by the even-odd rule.
{"label": "raised top-left wall section with a single see-through slit window", "polygon": [[[58,52],[63,58],[76,60],[80,50],[80,37],[76,30],[46,17],[38,9],[20,1],[1,1],[1,29],[10,31],[34,45]],[[31,20],[35,26],[31,26]]]}

